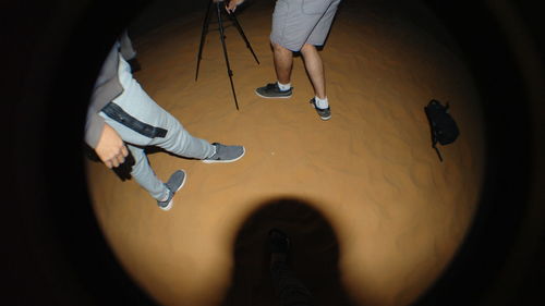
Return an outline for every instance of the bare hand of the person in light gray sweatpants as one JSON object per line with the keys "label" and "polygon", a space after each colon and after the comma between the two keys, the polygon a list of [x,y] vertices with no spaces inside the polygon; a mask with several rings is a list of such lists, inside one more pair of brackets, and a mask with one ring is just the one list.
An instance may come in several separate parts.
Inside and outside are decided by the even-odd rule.
{"label": "bare hand of the person in light gray sweatpants", "polygon": [[102,134],[100,134],[95,151],[98,158],[100,158],[106,167],[110,169],[123,163],[125,157],[129,155],[129,150],[123,139],[121,139],[118,132],[108,124],[104,125]]}

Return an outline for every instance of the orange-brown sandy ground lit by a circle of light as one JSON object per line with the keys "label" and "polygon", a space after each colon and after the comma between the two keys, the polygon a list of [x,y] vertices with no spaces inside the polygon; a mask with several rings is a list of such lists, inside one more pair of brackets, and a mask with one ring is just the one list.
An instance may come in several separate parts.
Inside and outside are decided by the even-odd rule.
{"label": "orange-brown sandy ground lit by a circle of light", "polygon": [[[196,137],[241,144],[243,159],[205,164],[149,155],[162,180],[187,182],[165,212],[134,181],[88,162],[94,209],[120,262],[164,305],[278,305],[264,250],[270,227],[293,236],[292,265],[318,305],[407,305],[441,273],[463,240],[483,174],[479,97],[464,62],[417,5],[342,2],[322,57],[332,119],[308,105],[294,61],[291,99],[262,99],[275,81],[274,1],[255,1],[226,29],[237,111],[210,26],[195,82],[204,12],[134,40],[135,78]],[[424,106],[450,101],[461,134],[431,147]],[[350,302],[352,301],[352,302]]]}

